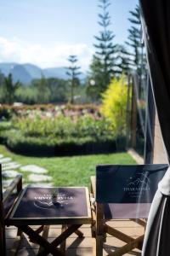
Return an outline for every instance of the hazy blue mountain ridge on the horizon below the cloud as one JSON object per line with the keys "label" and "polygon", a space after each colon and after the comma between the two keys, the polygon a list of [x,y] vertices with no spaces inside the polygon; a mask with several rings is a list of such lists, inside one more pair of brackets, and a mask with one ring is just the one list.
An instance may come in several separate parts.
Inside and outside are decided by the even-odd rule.
{"label": "hazy blue mountain ridge on the horizon below the cloud", "polygon": [[[22,84],[31,83],[32,79],[40,79],[42,75],[45,78],[57,78],[57,79],[68,79],[65,73],[65,67],[51,67],[44,68],[37,67],[33,64],[18,64],[15,62],[0,63],[0,71],[5,76],[8,76],[9,73],[12,73],[14,82],[20,81]],[[80,79],[84,79],[85,74],[82,73]]]}

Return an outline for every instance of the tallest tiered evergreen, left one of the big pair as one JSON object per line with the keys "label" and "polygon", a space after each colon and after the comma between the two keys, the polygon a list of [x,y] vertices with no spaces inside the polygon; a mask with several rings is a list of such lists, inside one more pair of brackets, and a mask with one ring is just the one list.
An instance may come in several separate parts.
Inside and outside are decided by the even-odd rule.
{"label": "tallest tiered evergreen, left one of the big pair", "polygon": [[99,9],[101,13],[99,14],[99,26],[101,31],[99,35],[95,36],[96,44],[95,54],[93,56],[93,61],[90,66],[91,74],[90,79],[94,79],[96,93],[100,96],[108,84],[110,84],[111,78],[115,75],[115,52],[116,45],[113,44],[113,38],[115,35],[109,29],[111,25],[111,17],[109,15],[108,8],[111,5],[110,0],[99,0]]}

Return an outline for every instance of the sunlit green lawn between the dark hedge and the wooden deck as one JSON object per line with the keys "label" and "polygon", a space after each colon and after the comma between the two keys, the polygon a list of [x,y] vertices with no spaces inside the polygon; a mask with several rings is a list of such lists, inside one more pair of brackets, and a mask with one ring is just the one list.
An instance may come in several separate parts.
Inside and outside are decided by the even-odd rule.
{"label": "sunlit green lawn between the dark hedge and the wooden deck", "polygon": [[[94,175],[96,165],[136,163],[127,153],[38,158],[13,154],[0,145],[0,154],[11,157],[22,166],[37,165],[46,168],[48,175],[53,177],[54,186],[89,186],[89,177]],[[27,182],[26,173],[23,173],[23,177]]]}

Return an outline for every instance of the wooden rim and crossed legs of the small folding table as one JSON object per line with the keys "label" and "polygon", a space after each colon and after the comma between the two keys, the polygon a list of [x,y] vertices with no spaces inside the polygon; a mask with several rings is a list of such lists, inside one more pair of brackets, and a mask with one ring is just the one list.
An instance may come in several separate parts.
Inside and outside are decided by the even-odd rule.
{"label": "wooden rim and crossed legs of the small folding table", "polygon": [[[28,189],[30,187],[26,187]],[[82,224],[91,224],[91,209],[90,209],[90,201],[88,188],[86,187],[62,187],[66,189],[74,189],[74,188],[84,188],[86,192],[86,203],[88,216],[81,217],[53,217],[53,218],[14,218],[14,212],[17,210],[17,207],[20,205],[20,201],[26,193],[26,189],[21,193],[18,201],[16,202],[13,211],[11,212],[8,218],[8,225],[14,225],[19,228],[22,232],[26,233],[27,236],[30,237],[31,241],[37,242],[40,245],[41,249],[39,250],[38,256],[47,255],[48,253],[52,253],[53,255],[63,256],[65,255],[65,240],[71,236],[72,233],[76,233],[77,236],[82,237],[83,234],[80,230],[78,230]],[[34,189],[32,187],[32,189]],[[44,188],[47,189],[47,188]],[[50,188],[55,189],[55,188]],[[47,241],[47,234],[50,224],[62,224],[62,232],[61,234],[54,239],[52,242]],[[42,225],[39,229],[33,230],[31,225]],[[40,232],[42,232],[42,236]],[[46,236],[44,236],[46,234]],[[56,248],[60,245],[61,250]]]}

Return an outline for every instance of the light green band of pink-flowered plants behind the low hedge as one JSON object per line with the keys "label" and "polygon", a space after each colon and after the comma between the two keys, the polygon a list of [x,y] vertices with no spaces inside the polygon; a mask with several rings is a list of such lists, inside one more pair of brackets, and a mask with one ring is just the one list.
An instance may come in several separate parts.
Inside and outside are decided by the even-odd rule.
{"label": "light green band of pink-flowered plants behind the low hedge", "polygon": [[12,119],[15,131],[27,137],[101,137],[111,134],[111,124],[104,118],[95,118],[90,114],[83,116],[57,117],[36,114]]}

